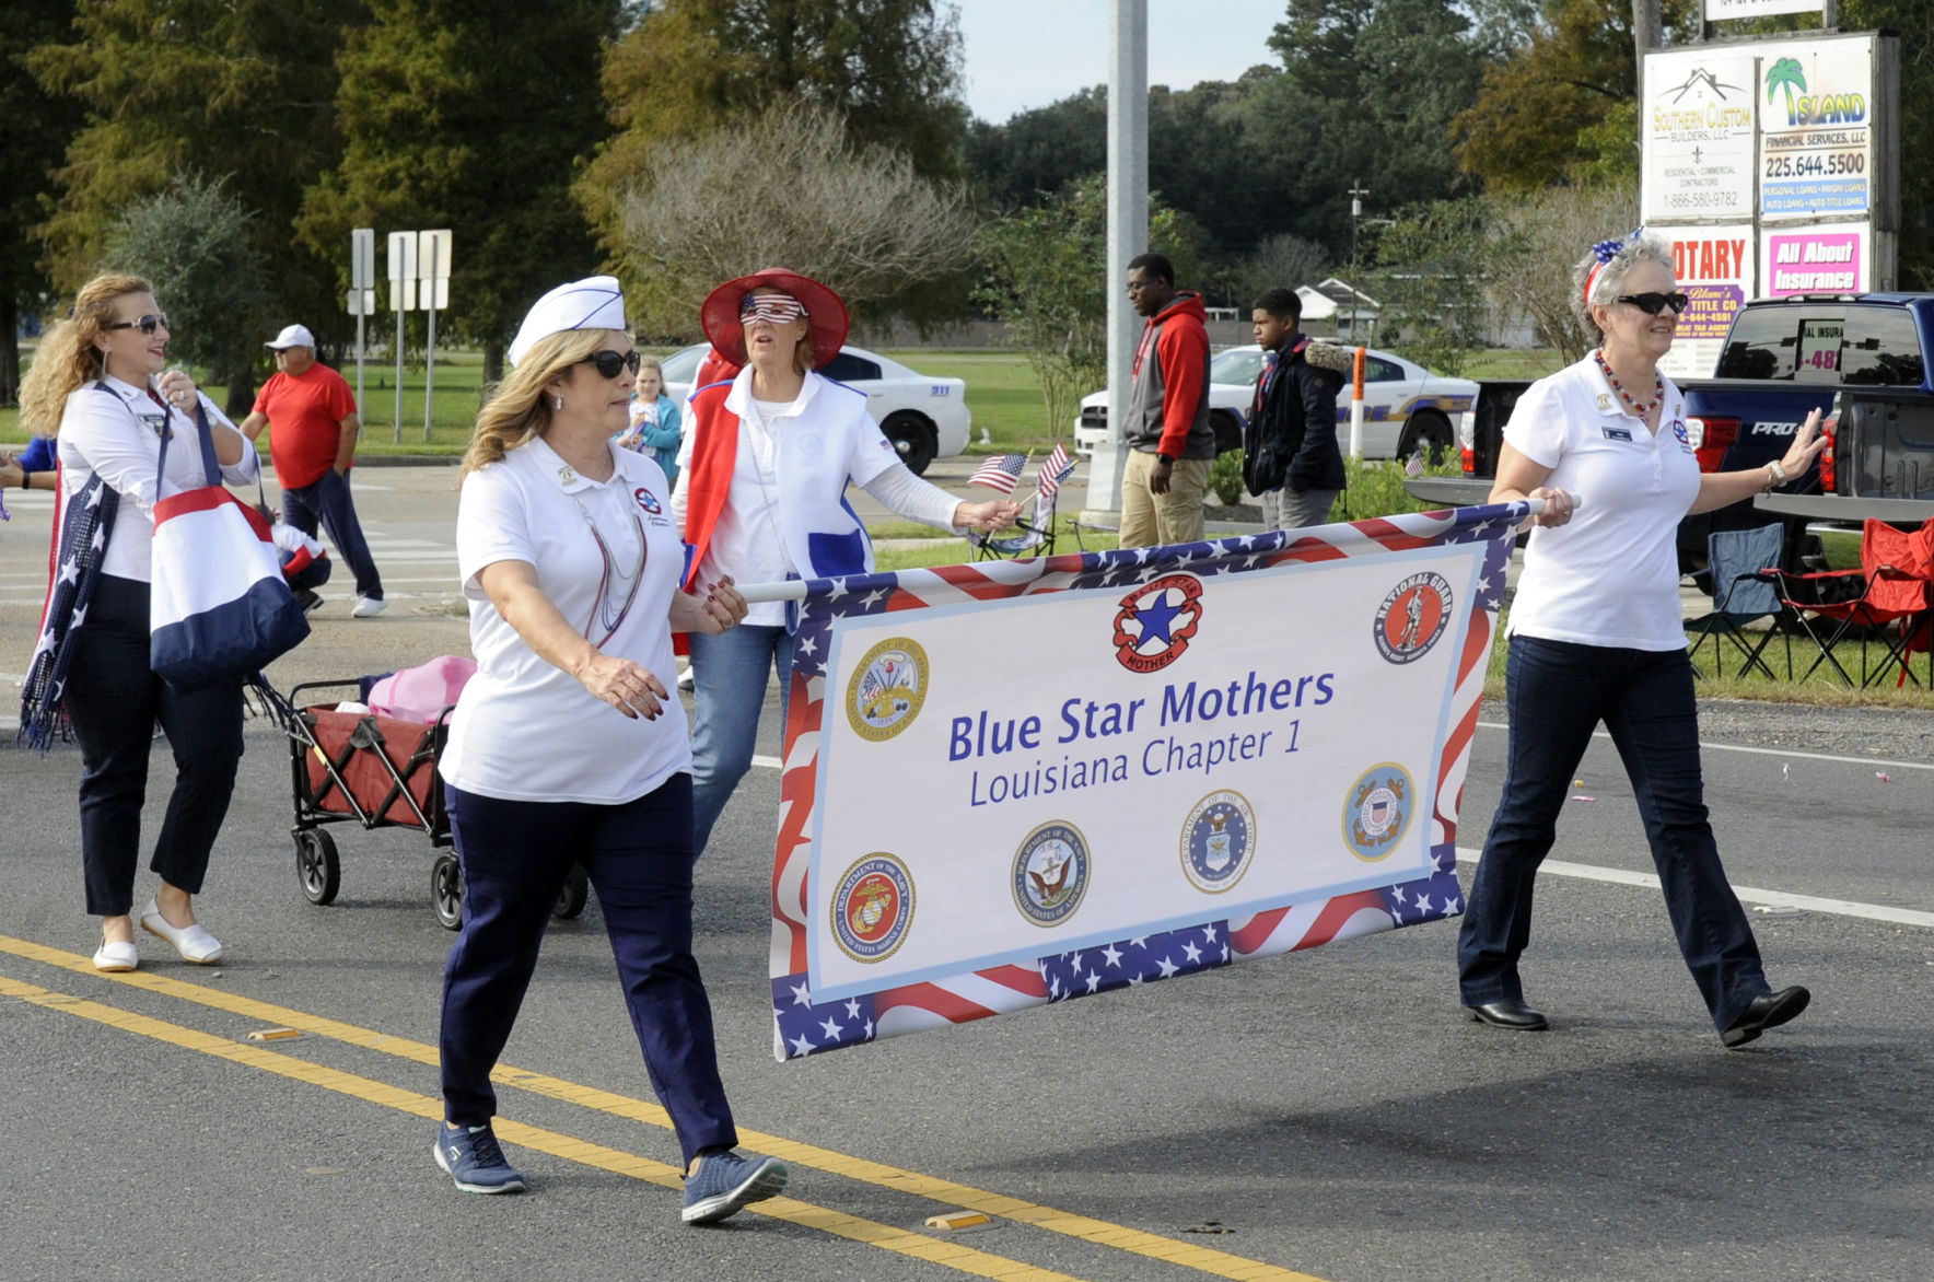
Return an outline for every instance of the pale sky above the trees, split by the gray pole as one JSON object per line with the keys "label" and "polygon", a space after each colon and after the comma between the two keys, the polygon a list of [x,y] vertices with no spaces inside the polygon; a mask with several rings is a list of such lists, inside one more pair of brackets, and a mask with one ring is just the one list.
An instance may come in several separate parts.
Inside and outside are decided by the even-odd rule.
{"label": "pale sky above the trees, split by the gray pole", "polygon": [[[1108,0],[957,0],[967,106],[990,124],[1108,79]],[[1275,64],[1284,0],[1149,0],[1149,83],[1187,89]]]}

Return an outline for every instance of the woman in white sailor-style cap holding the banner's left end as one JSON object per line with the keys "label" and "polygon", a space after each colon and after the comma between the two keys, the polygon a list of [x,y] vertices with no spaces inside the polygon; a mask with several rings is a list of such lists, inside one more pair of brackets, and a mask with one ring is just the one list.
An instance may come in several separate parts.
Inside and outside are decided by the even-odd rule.
{"label": "woman in white sailor-style cap holding the banner's left end", "polygon": [[464,870],[464,924],[443,980],[437,1164],[470,1193],[514,1193],[489,1073],[538,963],[549,905],[584,864],[603,907],[638,1044],[687,1160],[683,1218],[721,1220],[785,1187],[733,1152],[692,959],[692,777],[685,708],[658,673],[671,634],[745,617],[731,578],[681,592],[665,474],[617,449],[638,352],[617,280],[538,300],[514,371],[464,456],[456,559],[478,673],[439,758]]}

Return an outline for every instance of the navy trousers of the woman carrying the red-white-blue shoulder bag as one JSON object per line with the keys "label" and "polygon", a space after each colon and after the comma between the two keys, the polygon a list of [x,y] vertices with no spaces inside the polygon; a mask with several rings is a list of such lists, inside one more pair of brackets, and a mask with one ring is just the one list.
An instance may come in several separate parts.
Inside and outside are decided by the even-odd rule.
{"label": "navy trousers of the woman carrying the red-white-blue shoulder bag", "polygon": [[180,694],[157,677],[147,665],[147,607],[145,582],[101,576],[73,634],[62,700],[81,744],[81,868],[93,917],[133,911],[155,721],[174,748],[174,791],[149,868],[190,895],[201,893],[242,762],[242,681]]}

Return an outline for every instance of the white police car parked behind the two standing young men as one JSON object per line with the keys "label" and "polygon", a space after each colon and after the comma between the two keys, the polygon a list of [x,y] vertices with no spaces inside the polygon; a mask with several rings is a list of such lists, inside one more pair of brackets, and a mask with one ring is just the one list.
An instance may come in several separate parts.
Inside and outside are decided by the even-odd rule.
{"label": "white police car parked behind the two standing young men", "polygon": [[[1321,338],[1317,342],[1323,342]],[[1209,360],[1209,423],[1216,452],[1242,445],[1242,425],[1255,402],[1255,375],[1263,348],[1253,342],[1226,348]],[[1402,356],[1367,348],[1363,356],[1363,458],[1410,458],[1427,451],[1441,460],[1456,449],[1452,423],[1478,394],[1472,379],[1431,373]],[[1093,452],[1108,437],[1108,393],[1081,398],[1075,449]],[[1350,451],[1350,387],[1336,398],[1336,443]]]}

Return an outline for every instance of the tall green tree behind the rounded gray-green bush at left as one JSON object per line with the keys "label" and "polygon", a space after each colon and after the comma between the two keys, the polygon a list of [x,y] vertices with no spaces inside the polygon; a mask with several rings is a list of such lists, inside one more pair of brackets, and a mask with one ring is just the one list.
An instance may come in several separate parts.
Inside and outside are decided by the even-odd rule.
{"label": "tall green tree behind the rounded gray-green bush at left", "polygon": [[172,174],[222,174],[261,215],[249,234],[277,311],[327,327],[342,306],[333,273],[288,226],[338,155],[331,54],[360,14],[360,0],[81,4],[72,43],[27,54],[43,89],[87,114],[37,230],[54,286],[95,275],[106,228]]}

